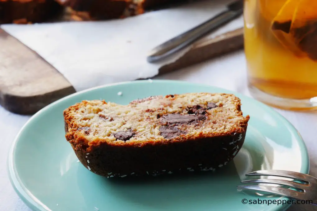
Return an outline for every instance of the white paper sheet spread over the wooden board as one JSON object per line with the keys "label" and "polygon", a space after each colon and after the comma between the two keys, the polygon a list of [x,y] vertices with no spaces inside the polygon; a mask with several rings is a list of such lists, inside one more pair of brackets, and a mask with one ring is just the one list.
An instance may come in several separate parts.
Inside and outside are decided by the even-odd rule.
{"label": "white paper sheet spread over the wooden board", "polygon": [[[36,51],[73,85],[76,91],[107,83],[148,78],[159,67],[181,57],[150,64],[155,46],[225,10],[232,0],[205,0],[120,20],[2,25],[1,28]],[[243,26],[243,17],[210,36]]]}

